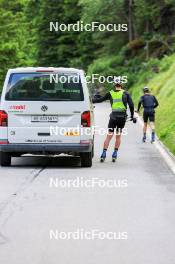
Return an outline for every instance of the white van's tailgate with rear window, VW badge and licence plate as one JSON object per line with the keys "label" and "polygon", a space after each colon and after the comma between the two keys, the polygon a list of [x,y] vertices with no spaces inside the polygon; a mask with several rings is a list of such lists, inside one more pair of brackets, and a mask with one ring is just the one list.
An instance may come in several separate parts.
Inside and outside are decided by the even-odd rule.
{"label": "white van's tailgate with rear window, VW badge and licence plate", "polygon": [[77,74],[57,76],[11,74],[5,98],[9,143],[80,142],[75,128],[81,127],[81,114],[87,110],[81,80]]}

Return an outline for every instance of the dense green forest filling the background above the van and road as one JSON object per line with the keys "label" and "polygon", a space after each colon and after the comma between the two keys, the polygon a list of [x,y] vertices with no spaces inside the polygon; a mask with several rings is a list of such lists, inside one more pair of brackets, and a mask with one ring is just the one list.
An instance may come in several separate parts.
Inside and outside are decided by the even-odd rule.
{"label": "dense green forest filling the background above the van and road", "polygon": [[[0,84],[18,66],[128,75],[175,50],[174,0],[0,0]],[[59,23],[128,24],[128,32],[50,32]]]}

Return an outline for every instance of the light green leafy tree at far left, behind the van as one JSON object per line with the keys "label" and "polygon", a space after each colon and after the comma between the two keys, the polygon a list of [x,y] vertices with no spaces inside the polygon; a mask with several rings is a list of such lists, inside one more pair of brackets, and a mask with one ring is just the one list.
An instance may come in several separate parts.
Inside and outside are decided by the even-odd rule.
{"label": "light green leafy tree at far left, behind the van", "polygon": [[20,65],[24,58],[25,23],[23,1],[0,1],[0,84],[9,68]]}

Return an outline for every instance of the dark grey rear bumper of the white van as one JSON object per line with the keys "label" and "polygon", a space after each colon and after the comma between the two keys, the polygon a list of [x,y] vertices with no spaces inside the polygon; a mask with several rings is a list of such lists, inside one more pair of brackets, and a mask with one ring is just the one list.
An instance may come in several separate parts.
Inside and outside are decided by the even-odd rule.
{"label": "dark grey rear bumper of the white van", "polygon": [[91,152],[90,144],[2,144],[0,151],[9,153],[68,153],[68,152]]}

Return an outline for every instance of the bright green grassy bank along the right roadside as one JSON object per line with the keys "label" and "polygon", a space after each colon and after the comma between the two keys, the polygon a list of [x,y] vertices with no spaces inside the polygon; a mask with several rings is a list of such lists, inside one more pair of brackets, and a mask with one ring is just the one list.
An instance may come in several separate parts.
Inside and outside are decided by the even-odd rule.
{"label": "bright green grassy bank along the right roadside", "polygon": [[[157,62],[159,73],[153,72],[152,65]],[[145,85],[160,103],[156,110],[157,134],[160,140],[175,154],[175,55],[161,61],[151,61],[139,72],[139,80],[131,87],[135,103],[138,103]]]}

